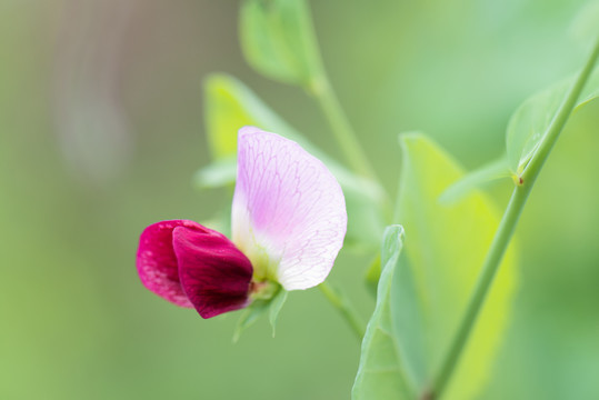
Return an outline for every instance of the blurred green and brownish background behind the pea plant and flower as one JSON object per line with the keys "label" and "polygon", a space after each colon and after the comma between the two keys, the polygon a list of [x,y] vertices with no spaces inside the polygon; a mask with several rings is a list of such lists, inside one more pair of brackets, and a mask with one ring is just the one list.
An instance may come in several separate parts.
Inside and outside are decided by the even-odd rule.
{"label": "blurred green and brownish background behind the pea plant and flower", "polygon": [[[395,192],[397,134],[422,130],[467,168],[505,150],[510,113],[586,57],[572,0],[311,1],[325,63]],[[277,337],[202,320],[144,290],[134,252],[161,219],[206,220],[201,81],[231,73],[341,159],[301,91],[261,78],[232,0],[0,0],[0,398],[347,399],[359,346],[317,290],[293,292]],[[535,189],[521,283],[481,399],[599,398],[599,112],[580,112]],[[491,187],[502,207],[509,182]],[[365,319],[369,256],[331,280]]]}

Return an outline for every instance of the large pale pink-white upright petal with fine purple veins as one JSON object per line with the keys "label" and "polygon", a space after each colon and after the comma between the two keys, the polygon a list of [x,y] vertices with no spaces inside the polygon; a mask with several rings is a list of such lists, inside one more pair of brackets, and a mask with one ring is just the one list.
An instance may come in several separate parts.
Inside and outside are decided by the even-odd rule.
{"label": "large pale pink-white upright petal with fine purple veins", "polygon": [[239,131],[233,241],[258,278],[287,290],[321,283],[346,229],[343,192],[320,160],[278,134]]}

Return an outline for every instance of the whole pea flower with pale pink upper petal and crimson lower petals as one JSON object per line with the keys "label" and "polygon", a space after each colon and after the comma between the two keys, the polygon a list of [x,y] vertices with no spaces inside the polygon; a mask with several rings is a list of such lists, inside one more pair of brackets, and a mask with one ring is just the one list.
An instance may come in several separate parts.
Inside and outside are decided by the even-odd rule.
{"label": "whole pea flower with pale pink upper petal and crimson lower petals", "polygon": [[347,212],[335,177],[298,143],[244,127],[238,134],[232,240],[189,220],[141,233],[141,282],[202,318],[268,298],[273,287],[312,288],[343,244]]}

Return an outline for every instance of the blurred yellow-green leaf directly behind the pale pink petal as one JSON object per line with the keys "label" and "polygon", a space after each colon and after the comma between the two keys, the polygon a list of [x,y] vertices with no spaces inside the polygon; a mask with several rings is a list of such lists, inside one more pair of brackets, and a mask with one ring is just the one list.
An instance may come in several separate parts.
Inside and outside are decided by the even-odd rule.
{"label": "blurred yellow-green leaf directly behind the pale pink petal", "polygon": [[229,186],[236,178],[237,131],[254,126],[298,142],[306,151],[327,164],[346,196],[348,233],[346,246],[361,251],[378,247],[383,230],[381,203],[383,190],[375,181],[358,177],[310,143],[279,118],[248,87],[226,74],[210,76],[204,86],[207,136],[216,161],[200,169],[196,186]]}

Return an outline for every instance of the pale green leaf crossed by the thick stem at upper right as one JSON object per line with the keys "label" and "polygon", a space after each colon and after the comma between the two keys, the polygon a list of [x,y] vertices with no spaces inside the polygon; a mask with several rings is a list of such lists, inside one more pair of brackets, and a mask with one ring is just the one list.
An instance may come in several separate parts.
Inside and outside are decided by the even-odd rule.
{"label": "pale green leaf crossed by the thick stem at upper right", "polygon": [[[522,174],[537,151],[575,79],[567,79],[532,96],[511,117],[507,131],[507,150],[509,167],[517,176]],[[597,97],[599,97],[599,70],[590,76],[573,112]]]}

